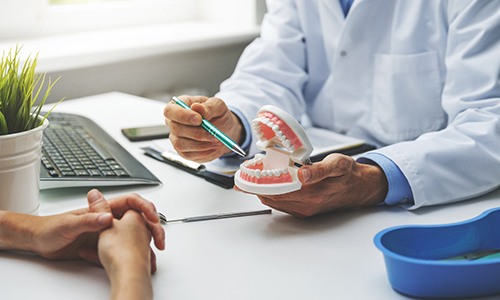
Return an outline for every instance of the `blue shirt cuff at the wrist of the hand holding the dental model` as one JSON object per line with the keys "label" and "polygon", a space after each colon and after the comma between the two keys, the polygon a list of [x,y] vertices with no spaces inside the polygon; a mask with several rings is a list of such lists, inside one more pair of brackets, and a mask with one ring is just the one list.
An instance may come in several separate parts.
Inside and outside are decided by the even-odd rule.
{"label": "blue shirt cuff at the wrist of the hand holding the dental model", "polygon": [[364,164],[376,164],[384,171],[388,184],[387,196],[384,199],[385,204],[407,206],[414,203],[408,180],[390,158],[381,153],[368,152],[357,161]]}

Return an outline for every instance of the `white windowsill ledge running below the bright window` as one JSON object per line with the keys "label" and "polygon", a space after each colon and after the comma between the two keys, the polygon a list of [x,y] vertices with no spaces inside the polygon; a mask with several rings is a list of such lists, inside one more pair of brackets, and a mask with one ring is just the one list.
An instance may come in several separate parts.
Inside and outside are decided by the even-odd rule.
{"label": "white windowsill ledge running below the bright window", "polygon": [[39,53],[39,72],[58,72],[210,47],[250,42],[258,26],[187,22],[0,41],[0,51],[22,45]]}

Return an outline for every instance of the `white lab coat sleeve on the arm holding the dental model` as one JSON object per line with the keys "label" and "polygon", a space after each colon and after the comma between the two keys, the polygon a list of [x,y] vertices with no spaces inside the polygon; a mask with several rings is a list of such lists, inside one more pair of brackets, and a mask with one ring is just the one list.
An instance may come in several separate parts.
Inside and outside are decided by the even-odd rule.
{"label": "white lab coat sleeve on the arm holding the dental model", "polygon": [[445,129],[381,148],[410,183],[415,204],[444,204],[500,185],[500,9],[498,1],[450,1]]}

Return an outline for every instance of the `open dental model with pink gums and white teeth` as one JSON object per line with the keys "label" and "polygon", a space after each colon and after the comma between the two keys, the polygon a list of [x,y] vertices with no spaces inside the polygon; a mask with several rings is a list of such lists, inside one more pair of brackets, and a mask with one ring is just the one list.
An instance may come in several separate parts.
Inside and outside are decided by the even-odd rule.
{"label": "open dental model with pink gums and white teeth", "polygon": [[262,107],[252,121],[257,135],[257,154],[245,161],[234,181],[243,191],[258,195],[278,195],[301,188],[297,177],[300,165],[310,164],[313,146],[300,124],[285,111],[272,106]]}

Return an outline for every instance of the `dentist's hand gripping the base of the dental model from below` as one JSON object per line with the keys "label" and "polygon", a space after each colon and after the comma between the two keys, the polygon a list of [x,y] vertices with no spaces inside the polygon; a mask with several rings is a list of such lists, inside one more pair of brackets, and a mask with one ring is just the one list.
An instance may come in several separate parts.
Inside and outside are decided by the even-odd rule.
{"label": "dentist's hand gripping the base of the dental model from below", "polygon": [[331,154],[298,172],[302,188],[282,195],[258,195],[261,202],[293,216],[305,218],[351,207],[375,206],[385,199],[387,179],[373,165],[350,156]]}

